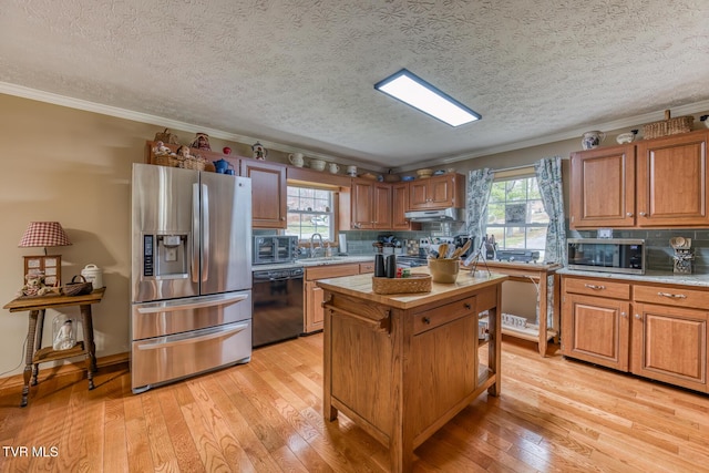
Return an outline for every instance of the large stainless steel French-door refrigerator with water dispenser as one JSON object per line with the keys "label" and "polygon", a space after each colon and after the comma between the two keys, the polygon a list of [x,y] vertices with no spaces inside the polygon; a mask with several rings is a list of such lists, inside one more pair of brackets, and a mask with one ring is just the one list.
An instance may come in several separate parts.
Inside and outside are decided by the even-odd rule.
{"label": "large stainless steel French-door refrigerator with water dispenser", "polygon": [[134,393],[251,357],[251,181],[133,165]]}

